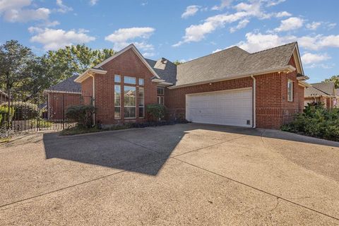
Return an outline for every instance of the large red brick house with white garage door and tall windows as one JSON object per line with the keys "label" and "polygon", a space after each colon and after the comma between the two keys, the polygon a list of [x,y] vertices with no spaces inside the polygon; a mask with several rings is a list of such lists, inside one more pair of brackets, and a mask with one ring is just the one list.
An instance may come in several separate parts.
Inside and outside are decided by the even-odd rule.
{"label": "large red brick house with white garage door and tall windows", "polygon": [[293,42],[253,54],[231,47],[178,66],[130,44],[75,81],[93,95],[96,123],[144,121],[145,106],[158,102],[169,119],[278,129],[302,112],[306,79]]}

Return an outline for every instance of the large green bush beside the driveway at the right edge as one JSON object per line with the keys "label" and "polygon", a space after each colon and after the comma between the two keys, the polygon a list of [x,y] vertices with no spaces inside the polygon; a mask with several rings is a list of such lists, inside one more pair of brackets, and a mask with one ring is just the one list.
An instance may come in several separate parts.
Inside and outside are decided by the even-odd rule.
{"label": "large green bush beside the driveway at the right edge", "polygon": [[339,109],[325,109],[322,103],[308,104],[304,113],[297,114],[292,123],[282,126],[281,129],[339,141]]}

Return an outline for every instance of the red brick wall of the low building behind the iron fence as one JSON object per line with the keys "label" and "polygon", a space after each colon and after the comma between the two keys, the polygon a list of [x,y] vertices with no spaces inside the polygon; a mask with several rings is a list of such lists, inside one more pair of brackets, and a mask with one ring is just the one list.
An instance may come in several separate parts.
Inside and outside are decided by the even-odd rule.
{"label": "red brick wall of the low building behind the iron fence", "polygon": [[[80,105],[81,95],[74,93],[49,93],[48,115],[49,119],[63,119],[69,106]],[[63,114],[64,112],[64,114]]]}

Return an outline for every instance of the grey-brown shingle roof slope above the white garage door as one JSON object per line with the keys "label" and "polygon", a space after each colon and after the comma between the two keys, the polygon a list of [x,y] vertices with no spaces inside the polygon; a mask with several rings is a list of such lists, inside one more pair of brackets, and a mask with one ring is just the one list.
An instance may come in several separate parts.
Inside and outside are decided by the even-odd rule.
{"label": "grey-brown shingle roof slope above the white garage door", "polygon": [[210,54],[177,66],[176,85],[200,83],[287,66],[297,42],[250,54],[239,47]]}

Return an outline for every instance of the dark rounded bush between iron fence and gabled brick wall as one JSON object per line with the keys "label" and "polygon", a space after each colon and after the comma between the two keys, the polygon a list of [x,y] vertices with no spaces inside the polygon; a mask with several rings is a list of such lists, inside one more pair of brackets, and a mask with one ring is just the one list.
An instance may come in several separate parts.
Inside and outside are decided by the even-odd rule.
{"label": "dark rounded bush between iron fence and gabled brick wall", "polygon": [[77,122],[83,127],[92,126],[92,117],[95,113],[93,105],[75,105],[66,110],[66,117],[70,121]]}

